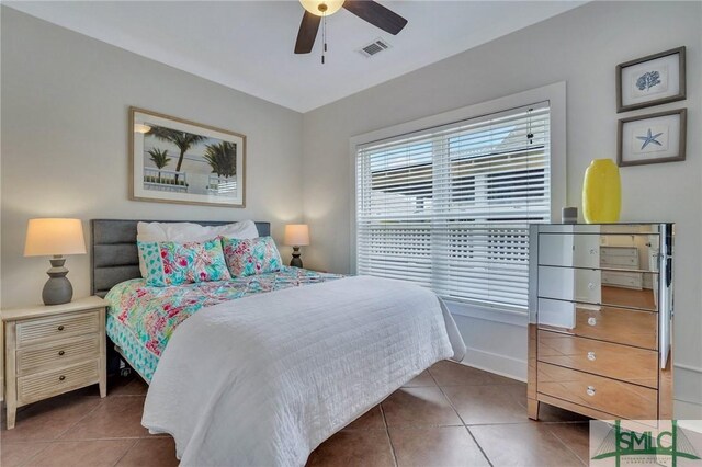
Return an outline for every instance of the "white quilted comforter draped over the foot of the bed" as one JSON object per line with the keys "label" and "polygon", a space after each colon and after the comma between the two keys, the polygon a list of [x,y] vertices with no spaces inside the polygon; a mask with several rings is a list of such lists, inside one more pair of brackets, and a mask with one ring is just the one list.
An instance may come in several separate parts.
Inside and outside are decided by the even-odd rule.
{"label": "white quilted comforter draped over the foot of the bed", "polygon": [[302,466],[327,437],[465,345],[437,296],[347,277],[202,309],[163,352],[141,423],[185,466]]}

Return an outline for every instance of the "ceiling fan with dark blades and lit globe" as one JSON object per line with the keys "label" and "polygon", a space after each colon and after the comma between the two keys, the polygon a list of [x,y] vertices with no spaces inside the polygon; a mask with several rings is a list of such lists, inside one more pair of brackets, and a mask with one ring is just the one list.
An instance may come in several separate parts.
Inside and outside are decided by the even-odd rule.
{"label": "ceiling fan with dark blades and lit globe", "polygon": [[[305,9],[299,24],[295,54],[309,54],[322,19],[336,13],[342,7],[360,19],[367,21],[381,30],[396,35],[407,24],[407,20],[372,0],[299,0]],[[326,44],[325,44],[326,48]]]}

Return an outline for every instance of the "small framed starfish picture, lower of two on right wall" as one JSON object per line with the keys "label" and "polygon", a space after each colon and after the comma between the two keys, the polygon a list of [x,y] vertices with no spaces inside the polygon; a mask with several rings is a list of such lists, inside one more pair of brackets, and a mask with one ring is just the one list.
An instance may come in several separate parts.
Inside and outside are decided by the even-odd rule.
{"label": "small framed starfish picture, lower of two on right wall", "polygon": [[619,121],[619,167],[682,161],[686,158],[687,109]]}

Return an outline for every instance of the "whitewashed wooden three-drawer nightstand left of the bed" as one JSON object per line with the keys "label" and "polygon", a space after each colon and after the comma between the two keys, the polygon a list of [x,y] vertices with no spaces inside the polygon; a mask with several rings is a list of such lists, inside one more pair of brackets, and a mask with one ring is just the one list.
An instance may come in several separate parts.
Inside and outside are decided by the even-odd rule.
{"label": "whitewashed wooden three-drawer nightstand left of the bed", "polygon": [[8,430],[18,407],[95,383],[105,397],[105,307],[88,297],[2,310]]}

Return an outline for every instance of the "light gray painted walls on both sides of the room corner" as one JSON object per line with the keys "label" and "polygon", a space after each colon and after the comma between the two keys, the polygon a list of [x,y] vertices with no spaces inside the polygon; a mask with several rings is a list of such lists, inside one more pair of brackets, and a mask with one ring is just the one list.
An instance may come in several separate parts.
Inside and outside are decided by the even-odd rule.
{"label": "light gray painted walls on both sides of the room corner", "polygon": [[[41,299],[48,263],[22,257],[32,217],[254,218],[271,220],[280,240],[304,207],[313,236],[305,264],[348,272],[350,137],[557,81],[568,87],[568,144],[555,157],[567,162],[564,204],[580,205],[589,161],[615,156],[614,66],[687,45],[688,100],[624,115],[688,107],[688,160],[622,169],[622,220],[678,224],[677,413],[702,418],[700,2],[589,3],[304,116],[14,10],[1,15],[3,307]],[[129,105],[246,134],[248,207],[128,201]],[[88,255],[67,265],[76,296],[87,295]],[[469,363],[523,377],[521,326],[456,320]]]}

